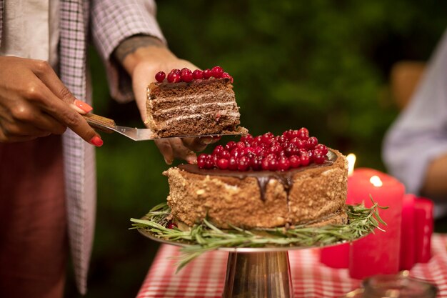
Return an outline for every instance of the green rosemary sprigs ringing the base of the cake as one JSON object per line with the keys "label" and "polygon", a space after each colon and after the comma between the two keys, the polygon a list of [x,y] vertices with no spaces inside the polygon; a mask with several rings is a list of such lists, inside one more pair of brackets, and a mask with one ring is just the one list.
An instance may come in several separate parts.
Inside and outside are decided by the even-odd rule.
{"label": "green rosemary sprigs ringing the base of the cake", "polygon": [[177,271],[192,259],[204,252],[221,247],[323,247],[338,242],[350,242],[379,229],[379,224],[386,225],[378,214],[381,207],[371,198],[373,206],[364,207],[363,204],[347,205],[348,224],[327,225],[324,227],[295,226],[289,229],[219,229],[209,220],[204,219],[191,229],[182,231],[168,229],[166,219],[171,209],[166,203],[152,208],[144,219],[131,219],[131,229],[141,229],[154,237],[186,244],[181,248],[181,257]]}

